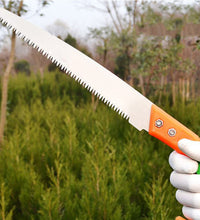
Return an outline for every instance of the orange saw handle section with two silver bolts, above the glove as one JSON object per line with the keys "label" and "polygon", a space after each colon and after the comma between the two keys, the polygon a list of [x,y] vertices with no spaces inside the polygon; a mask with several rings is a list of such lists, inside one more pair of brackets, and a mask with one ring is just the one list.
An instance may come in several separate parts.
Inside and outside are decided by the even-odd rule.
{"label": "orange saw handle section with two silver bolts, above the glove", "polygon": [[180,154],[184,154],[178,148],[178,141],[182,138],[200,141],[199,136],[156,105],[151,107],[149,134],[158,138]]}

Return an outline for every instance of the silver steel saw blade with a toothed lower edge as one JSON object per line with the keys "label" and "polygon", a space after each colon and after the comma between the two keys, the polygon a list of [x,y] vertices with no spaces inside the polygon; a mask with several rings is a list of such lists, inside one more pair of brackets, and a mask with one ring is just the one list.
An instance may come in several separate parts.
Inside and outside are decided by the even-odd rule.
{"label": "silver steel saw blade with a toothed lower edge", "polygon": [[3,8],[0,21],[138,130],[149,130],[152,102],[126,82],[64,41]]}

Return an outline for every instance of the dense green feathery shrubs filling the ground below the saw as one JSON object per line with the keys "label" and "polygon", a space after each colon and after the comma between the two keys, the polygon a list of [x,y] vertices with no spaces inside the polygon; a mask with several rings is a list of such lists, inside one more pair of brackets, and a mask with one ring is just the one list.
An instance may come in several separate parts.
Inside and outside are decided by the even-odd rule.
{"label": "dense green feathery shrubs filling the ground below the saw", "polygon": [[[200,101],[163,106],[200,132]],[[181,213],[169,183],[171,150],[103,103],[94,111],[89,92],[64,74],[11,78],[7,108],[2,219],[166,220]]]}

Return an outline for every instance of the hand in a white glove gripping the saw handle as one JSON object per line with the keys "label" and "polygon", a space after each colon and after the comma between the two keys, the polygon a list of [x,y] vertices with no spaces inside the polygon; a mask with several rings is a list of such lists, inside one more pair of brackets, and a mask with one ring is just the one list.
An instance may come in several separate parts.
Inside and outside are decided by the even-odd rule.
{"label": "hand in a white glove gripping the saw handle", "polygon": [[200,174],[195,174],[200,161],[200,141],[182,139],[178,146],[188,157],[175,151],[170,154],[169,164],[174,169],[170,182],[178,189],[176,199],[183,205],[184,216],[200,220]]}

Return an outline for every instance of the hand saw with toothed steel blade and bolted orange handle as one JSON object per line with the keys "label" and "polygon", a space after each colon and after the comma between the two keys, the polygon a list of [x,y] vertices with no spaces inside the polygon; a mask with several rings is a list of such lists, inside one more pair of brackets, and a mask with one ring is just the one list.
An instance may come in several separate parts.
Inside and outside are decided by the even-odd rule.
{"label": "hand saw with toothed steel blade and bolted orange handle", "polygon": [[0,21],[63,71],[117,111],[180,154],[178,141],[200,138],[112,72],[77,49],[21,17],[0,8]]}

